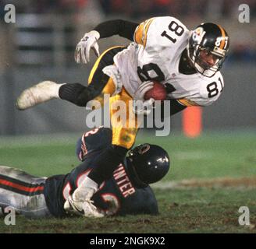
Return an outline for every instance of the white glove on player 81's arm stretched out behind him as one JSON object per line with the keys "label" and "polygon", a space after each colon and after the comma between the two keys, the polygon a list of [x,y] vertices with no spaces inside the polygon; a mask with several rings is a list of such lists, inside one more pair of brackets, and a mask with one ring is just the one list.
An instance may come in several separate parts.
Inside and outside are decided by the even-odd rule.
{"label": "white glove on player 81's arm stretched out behind him", "polygon": [[85,33],[84,37],[76,45],[75,61],[76,63],[86,64],[90,61],[90,50],[92,49],[96,56],[99,57],[97,40],[100,38],[100,33],[96,30],[92,30],[89,33]]}

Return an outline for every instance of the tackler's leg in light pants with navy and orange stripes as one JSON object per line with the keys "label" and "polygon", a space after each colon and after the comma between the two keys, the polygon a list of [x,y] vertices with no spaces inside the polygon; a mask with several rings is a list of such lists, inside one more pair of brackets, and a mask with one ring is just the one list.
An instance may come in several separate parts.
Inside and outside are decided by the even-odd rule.
{"label": "tackler's leg in light pants with navy and orange stripes", "polygon": [[23,170],[0,166],[0,208],[11,207],[16,214],[29,218],[51,216],[44,198],[45,178]]}

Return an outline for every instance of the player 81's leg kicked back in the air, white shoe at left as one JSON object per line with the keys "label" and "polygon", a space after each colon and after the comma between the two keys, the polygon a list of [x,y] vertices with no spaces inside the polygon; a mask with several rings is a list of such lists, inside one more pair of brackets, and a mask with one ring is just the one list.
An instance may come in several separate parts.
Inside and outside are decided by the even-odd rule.
{"label": "player 81's leg kicked back in the air, white shoe at left", "polygon": [[[108,65],[113,65],[113,57],[124,48],[120,46],[112,47],[101,54],[91,70],[88,86],[83,86],[80,83],[58,84],[52,81],[40,82],[35,86],[25,89],[20,94],[16,100],[16,107],[20,110],[25,110],[54,98],[60,98],[77,106],[86,107],[88,101],[94,100],[95,97],[101,95],[105,86],[113,84],[112,79],[102,72],[102,69]],[[108,89],[109,91],[111,90],[110,93],[114,93],[115,89],[110,88]]]}

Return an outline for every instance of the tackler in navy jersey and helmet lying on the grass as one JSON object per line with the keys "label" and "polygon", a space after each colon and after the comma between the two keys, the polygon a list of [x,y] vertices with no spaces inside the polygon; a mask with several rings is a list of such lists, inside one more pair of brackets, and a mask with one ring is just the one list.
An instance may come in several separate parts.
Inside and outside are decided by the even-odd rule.
{"label": "tackler in navy jersey and helmet lying on the grass", "polygon": [[[33,217],[88,216],[87,205],[66,201],[95,167],[94,160],[111,146],[112,130],[95,128],[78,140],[76,153],[82,161],[69,174],[34,177],[11,167],[0,167],[0,207]],[[169,156],[159,146],[144,144],[131,149],[112,178],[104,181],[91,198],[93,217],[126,214],[158,214],[155,195],[148,184],[162,179],[169,170]],[[71,198],[72,199],[72,198]],[[85,207],[85,208],[84,208]]]}

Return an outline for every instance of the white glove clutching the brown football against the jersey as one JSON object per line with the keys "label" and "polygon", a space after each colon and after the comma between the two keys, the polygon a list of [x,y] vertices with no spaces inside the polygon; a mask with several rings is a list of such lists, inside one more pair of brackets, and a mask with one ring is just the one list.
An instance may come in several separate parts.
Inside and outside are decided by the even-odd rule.
{"label": "white glove clutching the brown football against the jersey", "polygon": [[153,82],[146,81],[140,84],[140,86],[137,88],[136,93],[134,94],[133,97],[133,112],[135,114],[150,114],[155,100],[153,98],[149,100],[144,100],[144,95],[148,92],[148,90],[153,88],[153,85]]}

